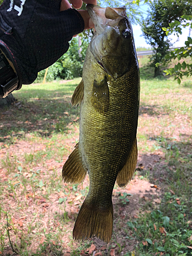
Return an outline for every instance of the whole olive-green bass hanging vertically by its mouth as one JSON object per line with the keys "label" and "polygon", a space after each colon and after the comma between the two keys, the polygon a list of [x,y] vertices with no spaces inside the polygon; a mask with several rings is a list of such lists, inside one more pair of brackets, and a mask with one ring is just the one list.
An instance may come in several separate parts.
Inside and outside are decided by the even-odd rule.
{"label": "whole olive-green bass hanging vertically by its mouth", "polygon": [[95,32],[82,80],[71,100],[72,106],[80,105],[79,142],[63,165],[62,179],[78,184],[89,174],[89,192],[79,210],[73,239],[97,237],[108,244],[115,182],[125,187],[137,163],[140,75],[126,8],[88,4],[87,10]]}

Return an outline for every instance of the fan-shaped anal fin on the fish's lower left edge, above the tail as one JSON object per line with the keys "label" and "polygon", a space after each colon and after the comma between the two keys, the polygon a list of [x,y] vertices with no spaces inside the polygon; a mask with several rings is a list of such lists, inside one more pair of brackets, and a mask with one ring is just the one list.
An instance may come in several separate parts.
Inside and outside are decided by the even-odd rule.
{"label": "fan-shaped anal fin on the fish's lower left edge, above the tail", "polygon": [[87,169],[79,157],[79,144],[77,143],[75,150],[62,167],[62,179],[66,183],[78,184],[86,178],[86,175]]}

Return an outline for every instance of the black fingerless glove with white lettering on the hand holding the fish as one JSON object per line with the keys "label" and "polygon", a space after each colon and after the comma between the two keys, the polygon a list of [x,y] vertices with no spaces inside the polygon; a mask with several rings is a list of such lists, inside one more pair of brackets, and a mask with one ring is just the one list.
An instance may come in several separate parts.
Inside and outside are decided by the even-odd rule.
{"label": "black fingerless glove with white lettering on the hand holding the fish", "polygon": [[67,52],[73,35],[84,29],[81,15],[75,9],[60,12],[60,2],[5,0],[0,7],[0,45],[10,49],[23,84]]}

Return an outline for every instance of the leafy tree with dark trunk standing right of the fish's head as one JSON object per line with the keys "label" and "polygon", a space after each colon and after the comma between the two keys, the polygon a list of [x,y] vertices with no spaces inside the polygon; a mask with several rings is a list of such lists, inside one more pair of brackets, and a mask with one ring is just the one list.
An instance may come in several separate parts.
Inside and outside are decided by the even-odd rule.
{"label": "leafy tree with dark trunk standing right of the fish's head", "polygon": [[161,74],[160,66],[156,63],[164,59],[168,49],[173,45],[162,28],[169,27],[169,24],[175,21],[182,23],[183,15],[191,14],[191,1],[154,0],[149,2],[149,6],[147,17],[142,19],[141,30],[147,43],[154,48],[155,54],[151,57],[151,63],[155,68],[154,76],[156,77]]}

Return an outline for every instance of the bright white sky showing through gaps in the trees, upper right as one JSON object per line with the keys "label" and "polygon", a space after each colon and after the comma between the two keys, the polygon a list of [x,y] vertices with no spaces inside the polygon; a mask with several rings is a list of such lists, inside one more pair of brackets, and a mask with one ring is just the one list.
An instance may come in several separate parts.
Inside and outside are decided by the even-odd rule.
{"label": "bright white sky showing through gaps in the trees, upper right", "polygon": [[[123,0],[115,0],[117,2],[119,2],[119,6],[123,5]],[[102,6],[104,7],[104,6]],[[143,16],[146,17],[147,15],[147,9],[148,6],[147,4],[140,4],[139,6],[139,11],[143,13]],[[142,36],[142,31],[141,31],[141,27],[139,25],[133,25],[133,33],[134,33],[134,40],[135,40],[135,46],[136,48],[138,47],[150,47],[150,45],[148,45],[144,39],[144,37]],[[192,31],[191,31],[192,34]],[[174,35],[170,35],[168,38],[171,39],[171,41],[174,43],[173,47],[182,47],[185,45],[185,41],[187,40],[187,36],[189,35],[189,29],[182,29],[182,35],[179,36],[179,38],[177,36]]]}

